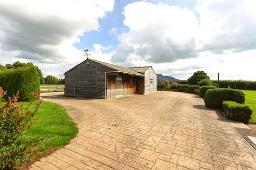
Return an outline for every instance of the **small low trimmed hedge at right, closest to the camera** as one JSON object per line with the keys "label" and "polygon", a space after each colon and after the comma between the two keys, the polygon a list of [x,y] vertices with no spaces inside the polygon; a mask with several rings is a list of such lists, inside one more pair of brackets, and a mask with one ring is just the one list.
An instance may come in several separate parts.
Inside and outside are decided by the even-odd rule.
{"label": "small low trimmed hedge at right, closest to the camera", "polygon": [[238,104],[235,101],[223,101],[222,109],[228,115],[230,120],[249,123],[252,115],[252,109],[248,105]]}

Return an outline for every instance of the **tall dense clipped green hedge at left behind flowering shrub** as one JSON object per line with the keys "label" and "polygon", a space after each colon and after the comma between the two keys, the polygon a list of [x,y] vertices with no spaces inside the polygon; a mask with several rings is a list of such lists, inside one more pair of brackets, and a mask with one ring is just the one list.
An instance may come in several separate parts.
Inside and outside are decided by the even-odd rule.
{"label": "tall dense clipped green hedge at left behind flowering shrub", "polygon": [[19,91],[20,100],[30,100],[31,92],[39,92],[40,78],[34,66],[2,70],[0,71],[0,87],[7,91],[6,96],[13,96]]}

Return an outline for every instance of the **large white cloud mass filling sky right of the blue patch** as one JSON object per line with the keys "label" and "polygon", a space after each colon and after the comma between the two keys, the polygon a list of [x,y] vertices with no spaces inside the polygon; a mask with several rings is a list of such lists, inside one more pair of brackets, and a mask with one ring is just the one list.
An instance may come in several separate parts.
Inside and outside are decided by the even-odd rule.
{"label": "large white cloud mass filling sky right of the blue patch", "polygon": [[212,78],[256,80],[256,2],[198,0],[195,10],[135,2],[124,8],[129,31],[118,35],[112,62],[153,65],[187,79],[197,70]]}

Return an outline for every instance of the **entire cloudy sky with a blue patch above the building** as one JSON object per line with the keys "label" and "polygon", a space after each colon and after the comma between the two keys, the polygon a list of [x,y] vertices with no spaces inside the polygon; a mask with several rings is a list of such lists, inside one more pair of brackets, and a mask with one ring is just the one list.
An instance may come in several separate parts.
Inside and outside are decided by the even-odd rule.
{"label": "entire cloudy sky with a blue patch above the building", "polygon": [[187,79],[256,80],[255,0],[2,0],[0,63],[34,62],[43,75],[91,58],[153,65]]}

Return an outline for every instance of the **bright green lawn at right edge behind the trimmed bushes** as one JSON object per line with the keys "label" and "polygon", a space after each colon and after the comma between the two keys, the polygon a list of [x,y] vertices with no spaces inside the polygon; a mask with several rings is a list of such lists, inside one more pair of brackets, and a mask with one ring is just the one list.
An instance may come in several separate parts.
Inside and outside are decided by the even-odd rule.
{"label": "bright green lawn at right edge behind the trimmed bushes", "polygon": [[256,91],[255,90],[243,90],[245,94],[245,104],[252,108],[251,123],[256,124]]}

